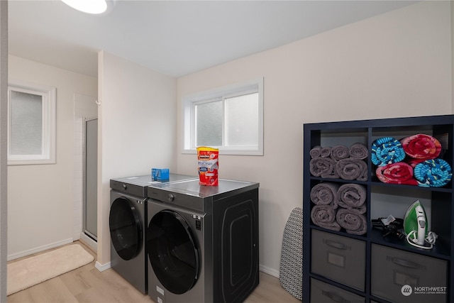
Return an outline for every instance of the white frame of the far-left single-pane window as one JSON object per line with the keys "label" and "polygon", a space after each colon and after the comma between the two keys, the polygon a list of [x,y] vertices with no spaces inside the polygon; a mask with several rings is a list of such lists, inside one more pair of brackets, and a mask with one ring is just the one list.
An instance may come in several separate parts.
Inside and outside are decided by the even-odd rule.
{"label": "white frame of the far-left single-pane window", "polygon": [[[42,97],[42,143],[40,155],[11,154],[11,91]],[[55,104],[56,88],[20,81],[8,84],[8,165],[55,164]]]}

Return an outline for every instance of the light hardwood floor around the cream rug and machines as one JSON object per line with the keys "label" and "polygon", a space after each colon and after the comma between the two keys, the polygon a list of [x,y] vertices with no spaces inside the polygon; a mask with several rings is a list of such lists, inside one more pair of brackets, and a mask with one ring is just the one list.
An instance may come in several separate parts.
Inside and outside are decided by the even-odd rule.
{"label": "light hardwood floor around the cream rug and machines", "polygon": [[[81,244],[89,253],[92,253],[96,260],[96,253],[89,246],[84,245],[81,241],[76,241],[76,243]],[[148,295],[140,293],[111,268],[99,272],[94,267],[94,263],[95,261],[21,292],[11,294],[7,298],[8,302],[154,302]],[[245,302],[299,303],[301,301],[286,292],[280,285],[279,279],[260,272],[260,284]]]}

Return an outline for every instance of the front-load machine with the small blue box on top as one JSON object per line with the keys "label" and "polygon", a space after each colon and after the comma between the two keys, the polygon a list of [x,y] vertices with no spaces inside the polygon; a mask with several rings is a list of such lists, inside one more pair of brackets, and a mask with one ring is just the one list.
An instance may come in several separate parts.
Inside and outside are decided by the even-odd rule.
{"label": "front-load machine with the small blue box on top", "polygon": [[[165,182],[194,179],[191,176],[170,174]],[[147,222],[147,188],[163,184],[151,175],[121,177],[110,180],[111,210],[111,268],[135,288],[148,292],[145,224]]]}

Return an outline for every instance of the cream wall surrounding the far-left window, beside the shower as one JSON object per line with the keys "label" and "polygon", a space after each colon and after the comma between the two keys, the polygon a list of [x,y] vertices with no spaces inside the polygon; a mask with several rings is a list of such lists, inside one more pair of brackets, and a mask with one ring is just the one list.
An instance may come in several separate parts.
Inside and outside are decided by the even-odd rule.
{"label": "cream wall surrounding the far-left window, beside the shower", "polygon": [[9,55],[9,79],[57,88],[56,164],[9,165],[8,257],[73,239],[74,93],[96,96],[96,78]]}

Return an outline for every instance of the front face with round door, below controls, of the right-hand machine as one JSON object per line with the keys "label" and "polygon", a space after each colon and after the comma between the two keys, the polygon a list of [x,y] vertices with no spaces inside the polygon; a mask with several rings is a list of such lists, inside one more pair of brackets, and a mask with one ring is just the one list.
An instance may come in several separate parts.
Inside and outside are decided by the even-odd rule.
{"label": "front face with round door, below controls, of the right-hand machine", "polygon": [[155,302],[204,302],[204,214],[148,200],[148,294]]}

